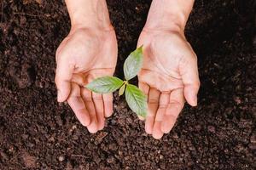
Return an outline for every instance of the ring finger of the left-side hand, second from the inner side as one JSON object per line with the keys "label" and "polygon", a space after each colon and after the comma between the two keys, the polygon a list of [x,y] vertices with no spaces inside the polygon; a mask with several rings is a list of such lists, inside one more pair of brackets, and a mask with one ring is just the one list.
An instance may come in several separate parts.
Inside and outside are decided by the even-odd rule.
{"label": "ring finger of the left-side hand, second from the inner side", "polygon": [[104,105],[103,105],[103,98],[102,94],[92,93],[92,99],[94,103],[94,107],[96,109],[96,118],[98,121],[98,130],[102,130],[105,123],[104,117]]}

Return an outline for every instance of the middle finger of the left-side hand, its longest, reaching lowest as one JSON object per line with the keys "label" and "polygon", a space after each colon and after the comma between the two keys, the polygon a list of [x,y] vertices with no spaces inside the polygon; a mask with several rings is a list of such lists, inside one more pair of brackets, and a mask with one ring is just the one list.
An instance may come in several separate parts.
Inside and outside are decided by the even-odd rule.
{"label": "middle finger of the left-side hand, its longest, reaching lowest", "polygon": [[98,123],[90,90],[88,90],[87,88],[82,88],[82,98],[84,99],[84,104],[90,115],[90,124],[87,126],[87,129],[90,133],[96,133],[98,130]]}

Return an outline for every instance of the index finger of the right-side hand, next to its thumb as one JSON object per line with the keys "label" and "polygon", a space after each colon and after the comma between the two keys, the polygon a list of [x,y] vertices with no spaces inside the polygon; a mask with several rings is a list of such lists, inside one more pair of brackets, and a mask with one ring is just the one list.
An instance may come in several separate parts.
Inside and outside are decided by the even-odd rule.
{"label": "index finger of the right-side hand, next to its thumb", "polygon": [[163,133],[169,133],[174,126],[177,116],[182,111],[184,106],[183,88],[173,90],[170,95],[170,102],[166,109],[163,122],[161,124],[161,131]]}

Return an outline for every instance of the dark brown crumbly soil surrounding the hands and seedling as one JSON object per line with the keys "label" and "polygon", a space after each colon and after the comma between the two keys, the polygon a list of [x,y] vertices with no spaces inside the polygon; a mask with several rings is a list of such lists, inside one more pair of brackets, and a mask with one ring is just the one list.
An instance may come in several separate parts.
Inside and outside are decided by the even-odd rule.
{"label": "dark brown crumbly soil surrounding the hands and seedling", "polygon": [[[108,0],[125,57],[136,48],[148,0]],[[0,2],[0,169],[255,169],[256,3],[197,0],[186,35],[199,59],[199,105],[186,105],[161,140],[123,98],[90,134],[56,102],[55,49],[70,29],[62,1]]]}

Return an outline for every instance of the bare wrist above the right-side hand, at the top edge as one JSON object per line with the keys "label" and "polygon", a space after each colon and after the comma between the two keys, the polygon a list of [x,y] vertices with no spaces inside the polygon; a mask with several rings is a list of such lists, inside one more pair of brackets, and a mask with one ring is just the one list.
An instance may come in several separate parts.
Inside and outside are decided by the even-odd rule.
{"label": "bare wrist above the right-side hand, at the top edge", "polygon": [[153,0],[145,28],[184,31],[194,0]]}

